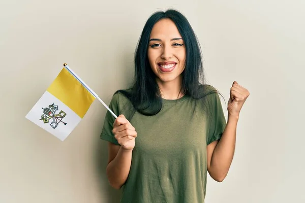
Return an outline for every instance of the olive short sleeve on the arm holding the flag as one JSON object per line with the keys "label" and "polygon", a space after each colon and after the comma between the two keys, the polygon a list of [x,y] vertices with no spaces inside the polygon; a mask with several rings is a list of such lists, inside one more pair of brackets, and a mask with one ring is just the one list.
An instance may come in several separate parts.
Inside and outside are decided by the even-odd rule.
{"label": "olive short sleeve on the arm holding the flag", "polygon": [[[119,96],[118,93],[114,94],[111,98],[109,109],[113,111],[115,115],[119,115]],[[102,140],[111,142],[115,145],[119,145],[117,140],[114,138],[114,134],[112,132],[113,123],[115,121],[115,117],[107,110],[104,120],[104,125],[102,128],[102,132],[100,134],[100,138]]]}

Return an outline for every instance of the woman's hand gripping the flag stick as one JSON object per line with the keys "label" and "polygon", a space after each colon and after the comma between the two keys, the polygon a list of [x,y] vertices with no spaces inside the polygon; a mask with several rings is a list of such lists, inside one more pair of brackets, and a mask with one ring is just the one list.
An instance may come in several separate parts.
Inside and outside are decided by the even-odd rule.
{"label": "woman's hand gripping the flag stick", "polygon": [[135,147],[135,138],[137,137],[136,129],[125,118],[124,115],[119,115],[114,123],[112,132],[118,144],[125,150],[133,150]]}

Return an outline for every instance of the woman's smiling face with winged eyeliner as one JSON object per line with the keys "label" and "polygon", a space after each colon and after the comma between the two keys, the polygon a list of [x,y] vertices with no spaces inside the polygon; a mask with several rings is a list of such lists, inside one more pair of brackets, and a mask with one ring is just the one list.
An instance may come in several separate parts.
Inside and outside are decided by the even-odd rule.
{"label": "woman's smiling face with winged eyeliner", "polygon": [[151,30],[148,59],[158,82],[181,81],[186,48],[175,23],[170,19],[160,20]]}

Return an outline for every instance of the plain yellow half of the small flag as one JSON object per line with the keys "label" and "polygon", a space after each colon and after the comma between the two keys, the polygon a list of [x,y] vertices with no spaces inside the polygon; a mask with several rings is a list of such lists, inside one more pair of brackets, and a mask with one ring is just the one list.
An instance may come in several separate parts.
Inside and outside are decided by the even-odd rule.
{"label": "plain yellow half of the small flag", "polygon": [[83,118],[95,97],[64,67],[47,89]]}

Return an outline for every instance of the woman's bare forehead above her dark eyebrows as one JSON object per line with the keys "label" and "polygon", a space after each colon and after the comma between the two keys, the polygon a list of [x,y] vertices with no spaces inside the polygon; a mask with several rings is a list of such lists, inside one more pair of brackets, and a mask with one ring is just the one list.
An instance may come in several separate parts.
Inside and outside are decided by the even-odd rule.
{"label": "woman's bare forehead above her dark eyebrows", "polygon": [[150,38],[172,39],[181,38],[181,35],[172,20],[162,19],[154,25],[150,33]]}

